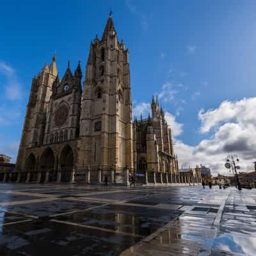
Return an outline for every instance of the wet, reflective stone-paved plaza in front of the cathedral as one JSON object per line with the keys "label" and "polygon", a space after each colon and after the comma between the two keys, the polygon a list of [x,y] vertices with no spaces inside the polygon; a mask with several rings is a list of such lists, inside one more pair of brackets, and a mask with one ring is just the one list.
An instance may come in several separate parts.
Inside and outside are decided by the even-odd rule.
{"label": "wet, reflective stone-paved plaza in front of the cathedral", "polygon": [[0,184],[0,255],[255,255],[256,189]]}

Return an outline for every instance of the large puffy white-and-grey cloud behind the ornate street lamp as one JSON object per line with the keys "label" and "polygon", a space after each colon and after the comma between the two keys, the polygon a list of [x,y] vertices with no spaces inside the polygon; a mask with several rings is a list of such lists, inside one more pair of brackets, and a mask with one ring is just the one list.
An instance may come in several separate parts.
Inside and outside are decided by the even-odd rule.
{"label": "large puffy white-and-grey cloud behind the ornate street lamp", "polygon": [[225,157],[237,154],[241,159],[241,171],[253,170],[253,161],[256,160],[255,108],[256,98],[249,98],[225,101],[216,109],[201,110],[198,114],[200,132],[207,134],[213,129],[214,134],[195,147],[175,139],[180,166],[202,163],[209,166],[215,175],[227,174]]}

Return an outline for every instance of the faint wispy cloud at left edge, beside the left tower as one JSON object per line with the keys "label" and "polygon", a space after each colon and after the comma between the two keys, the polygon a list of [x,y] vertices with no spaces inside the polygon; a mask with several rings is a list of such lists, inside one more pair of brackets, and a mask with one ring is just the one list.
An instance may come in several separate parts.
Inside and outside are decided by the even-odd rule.
{"label": "faint wispy cloud at left edge, beside the left tower", "polygon": [[6,80],[6,84],[4,85],[6,98],[10,100],[21,99],[21,86],[15,70],[3,61],[0,61],[0,74],[3,74]]}

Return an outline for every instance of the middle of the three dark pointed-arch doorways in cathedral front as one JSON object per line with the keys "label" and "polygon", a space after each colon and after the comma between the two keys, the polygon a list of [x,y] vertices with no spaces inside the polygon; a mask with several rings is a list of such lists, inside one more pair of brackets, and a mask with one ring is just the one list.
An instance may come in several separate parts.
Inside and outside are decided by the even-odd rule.
{"label": "middle of the three dark pointed-arch doorways in cathedral front", "polygon": [[54,170],[54,153],[51,148],[47,148],[41,157],[41,183],[45,182],[46,172],[49,172],[49,181],[57,175]]}

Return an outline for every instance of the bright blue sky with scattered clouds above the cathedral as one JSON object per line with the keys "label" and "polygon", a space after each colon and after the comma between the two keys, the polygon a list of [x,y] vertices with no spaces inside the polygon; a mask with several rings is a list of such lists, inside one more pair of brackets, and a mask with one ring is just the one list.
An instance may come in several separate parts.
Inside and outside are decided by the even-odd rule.
{"label": "bright blue sky with scattered clouds above the cathedral", "polygon": [[[129,49],[134,115],[147,116],[148,103],[158,94],[181,164],[204,163],[224,172],[229,148],[241,154],[244,170],[252,169],[248,126],[254,119],[244,116],[248,104],[254,106],[255,1],[4,1],[0,153],[15,160],[32,77],[51,62],[54,51],[60,76],[67,61],[74,69],[81,60],[84,71],[90,41],[102,35],[110,8],[118,38]],[[223,101],[229,105],[223,107]],[[236,136],[228,128],[232,124],[241,128]],[[224,129],[229,133],[220,134]],[[250,144],[245,149],[226,147],[241,145],[242,139]],[[218,140],[227,143],[209,150]]]}

